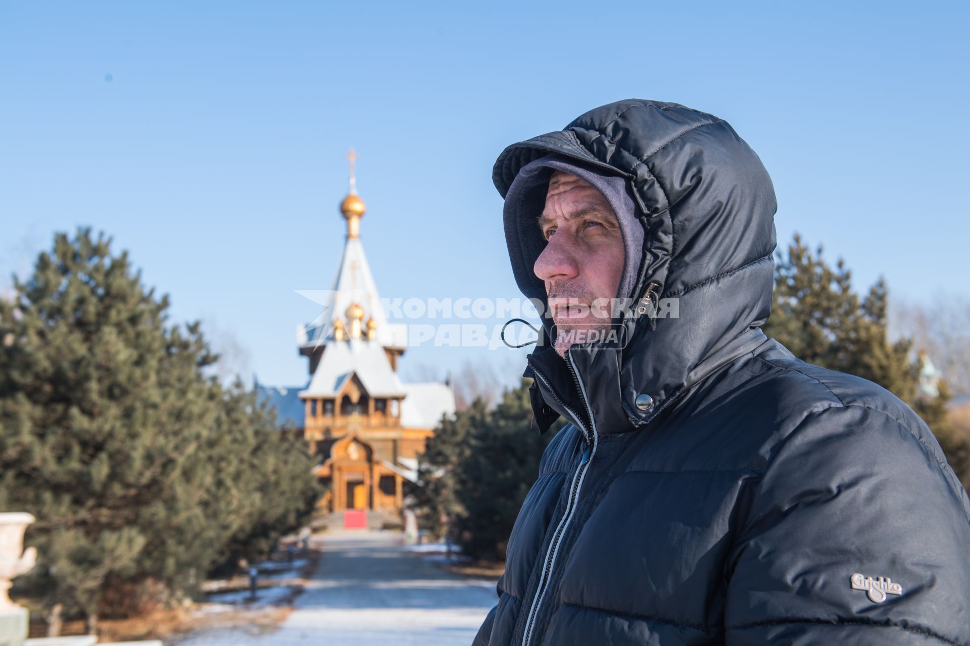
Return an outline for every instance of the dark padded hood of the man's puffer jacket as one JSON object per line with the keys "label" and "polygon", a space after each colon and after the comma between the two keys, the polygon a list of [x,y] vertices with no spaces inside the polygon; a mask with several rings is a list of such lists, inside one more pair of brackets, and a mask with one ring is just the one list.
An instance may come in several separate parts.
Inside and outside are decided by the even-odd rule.
{"label": "dark padded hood of the man's puffer jacket", "polygon": [[[643,241],[641,258],[626,259],[639,267],[631,292],[637,307],[617,321],[619,341],[574,345],[563,360],[548,344],[546,324],[540,328],[525,373],[537,377],[533,413],[543,432],[559,415],[588,431],[628,431],[764,341],[774,189],[758,155],[726,121],[678,104],[621,101],[508,146],[493,171],[502,198],[521,169],[550,154],[623,177]],[[533,274],[544,243],[519,239],[529,230],[516,222],[536,215],[506,212],[506,239],[519,288],[547,305]]]}

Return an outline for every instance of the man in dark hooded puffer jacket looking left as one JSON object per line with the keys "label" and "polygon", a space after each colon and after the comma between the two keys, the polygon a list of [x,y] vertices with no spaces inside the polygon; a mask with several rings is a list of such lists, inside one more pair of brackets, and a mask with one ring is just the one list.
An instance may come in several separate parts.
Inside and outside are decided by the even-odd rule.
{"label": "man in dark hooded puffer jacket looking left", "polygon": [[570,423],[475,646],[970,644],[970,501],[903,402],[761,332],[774,191],[725,121],[603,106],[494,179],[518,285],[552,304],[535,420]]}

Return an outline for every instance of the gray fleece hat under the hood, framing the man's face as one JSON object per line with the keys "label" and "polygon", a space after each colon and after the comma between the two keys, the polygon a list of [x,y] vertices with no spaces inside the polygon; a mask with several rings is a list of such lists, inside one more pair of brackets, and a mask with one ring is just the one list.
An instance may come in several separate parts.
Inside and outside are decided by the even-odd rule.
{"label": "gray fleece hat under the hood, framing the man's face", "polygon": [[630,298],[640,269],[643,226],[627,191],[627,180],[620,175],[577,166],[559,155],[546,155],[522,167],[505,195],[505,242],[519,289],[529,298],[546,302],[545,285],[533,272],[533,266],[546,246],[542,231],[539,231],[538,218],[545,207],[549,177],[554,170],[568,172],[589,182],[612,207],[626,252],[616,297]]}

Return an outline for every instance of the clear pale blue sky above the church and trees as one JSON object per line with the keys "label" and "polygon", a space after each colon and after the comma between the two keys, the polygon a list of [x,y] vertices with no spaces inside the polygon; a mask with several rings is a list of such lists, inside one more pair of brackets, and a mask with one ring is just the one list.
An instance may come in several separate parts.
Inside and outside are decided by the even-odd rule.
{"label": "clear pale blue sky above the church and trees", "polygon": [[[295,290],[333,280],[348,147],[382,295],[517,296],[496,156],[637,97],[734,126],[781,244],[824,243],[859,289],[970,295],[966,3],[676,4],[3,2],[3,282],[54,231],[108,231],[175,321],[299,385]],[[521,370],[484,352],[404,375]]]}

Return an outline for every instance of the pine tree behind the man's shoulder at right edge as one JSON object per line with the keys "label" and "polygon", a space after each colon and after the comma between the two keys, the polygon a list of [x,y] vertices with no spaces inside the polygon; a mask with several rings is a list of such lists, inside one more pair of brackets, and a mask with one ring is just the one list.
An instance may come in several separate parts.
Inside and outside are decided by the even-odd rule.
{"label": "pine tree behind the man's shoulder at right edge", "polygon": [[860,299],[845,263],[839,259],[832,268],[821,245],[813,254],[795,234],[788,257],[778,253],[764,332],[800,359],[875,382],[909,404],[933,430],[957,476],[967,481],[970,445],[950,429],[949,390],[944,385],[937,397],[921,394],[912,340],[889,342],[888,300],[882,279]]}

